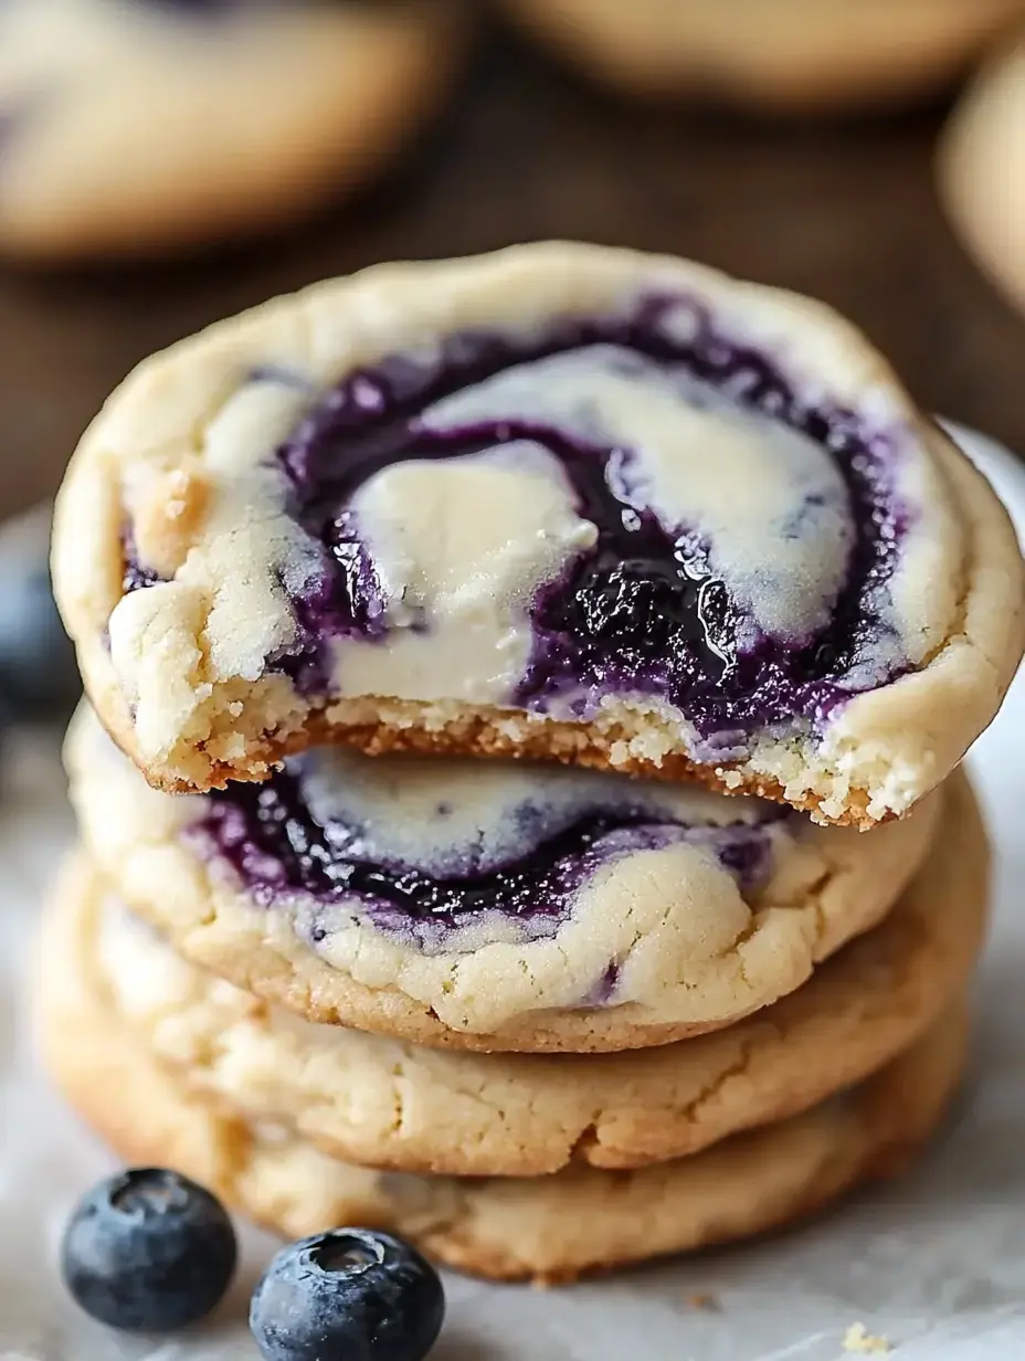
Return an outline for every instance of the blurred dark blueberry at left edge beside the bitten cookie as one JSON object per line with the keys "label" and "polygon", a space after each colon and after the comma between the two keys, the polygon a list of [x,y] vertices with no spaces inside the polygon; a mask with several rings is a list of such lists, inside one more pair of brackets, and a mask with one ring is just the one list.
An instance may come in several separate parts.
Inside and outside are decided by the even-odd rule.
{"label": "blurred dark blueberry at left edge beside the bitten cookie", "polygon": [[53,603],[50,508],[0,527],[0,717],[60,719],[80,694],[75,649]]}

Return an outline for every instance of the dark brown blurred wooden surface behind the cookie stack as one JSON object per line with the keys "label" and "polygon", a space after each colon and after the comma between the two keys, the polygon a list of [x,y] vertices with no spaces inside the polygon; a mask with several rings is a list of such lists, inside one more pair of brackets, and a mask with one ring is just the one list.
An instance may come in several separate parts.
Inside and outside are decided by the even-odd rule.
{"label": "dark brown blurred wooden surface behind the cookie stack", "polygon": [[376,260],[550,235],[690,255],[825,298],[922,403],[1025,452],[1025,320],[941,215],[943,114],[814,127],[636,109],[493,37],[442,125],[358,206],[173,268],[0,269],[0,513],[56,487],[137,359],[206,323]]}

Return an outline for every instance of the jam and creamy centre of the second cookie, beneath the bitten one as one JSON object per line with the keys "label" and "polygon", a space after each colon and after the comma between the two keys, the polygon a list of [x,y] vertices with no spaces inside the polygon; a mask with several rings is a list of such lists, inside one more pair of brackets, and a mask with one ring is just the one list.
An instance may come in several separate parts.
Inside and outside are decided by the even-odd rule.
{"label": "jam and creamy centre of the second cookie, beneath the bitten one", "polygon": [[313,898],[437,946],[495,913],[550,935],[602,870],[670,847],[757,893],[787,821],[623,776],[314,749],[263,785],[211,793],[188,836],[265,906]]}

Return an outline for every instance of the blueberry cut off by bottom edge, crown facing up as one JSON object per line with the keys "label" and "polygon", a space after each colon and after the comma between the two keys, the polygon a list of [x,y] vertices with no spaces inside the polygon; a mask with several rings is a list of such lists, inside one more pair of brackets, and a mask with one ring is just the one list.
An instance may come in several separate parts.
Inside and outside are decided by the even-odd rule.
{"label": "blueberry cut off by bottom edge, crown facing up", "polygon": [[402,1239],[336,1229],[284,1248],[253,1294],[265,1361],[421,1361],[445,1316],[437,1271]]}

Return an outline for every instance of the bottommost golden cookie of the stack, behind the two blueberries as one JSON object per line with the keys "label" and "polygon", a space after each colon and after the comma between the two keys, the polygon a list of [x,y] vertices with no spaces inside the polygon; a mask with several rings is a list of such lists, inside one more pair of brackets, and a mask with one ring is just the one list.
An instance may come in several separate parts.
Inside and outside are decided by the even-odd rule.
{"label": "bottommost golden cookie of the stack, behind the two blueberries", "polygon": [[438,1262],[500,1279],[566,1281],[742,1239],[896,1175],[941,1119],[965,1056],[956,1004],[863,1086],[693,1158],[640,1172],[418,1177],[336,1162],[284,1124],[230,1113],[159,1064],[72,950],[44,947],[41,965],[44,1062],[127,1161],[178,1168],[289,1237],[378,1226]]}

